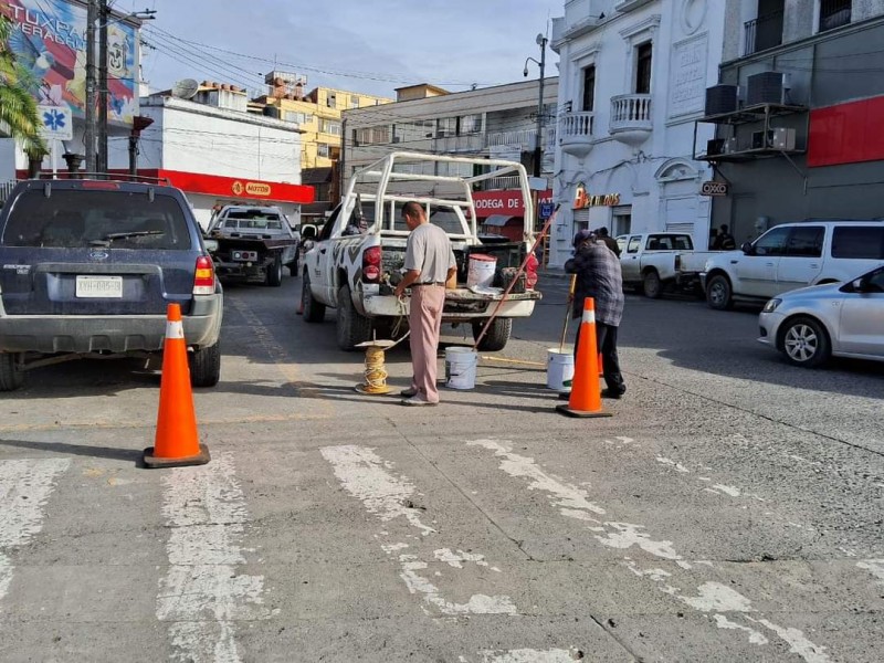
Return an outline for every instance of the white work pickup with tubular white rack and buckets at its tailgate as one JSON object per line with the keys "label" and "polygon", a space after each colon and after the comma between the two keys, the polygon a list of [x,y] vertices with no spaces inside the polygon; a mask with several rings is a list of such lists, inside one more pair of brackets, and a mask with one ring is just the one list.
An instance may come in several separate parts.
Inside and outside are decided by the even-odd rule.
{"label": "white work pickup with tubular white rack and buckets at its tailgate", "polygon": [[[430,175],[463,170],[484,172],[475,177]],[[514,175],[525,206],[523,240],[483,244],[476,233],[473,187]],[[513,281],[527,256],[534,214],[527,175],[520,164],[418,152],[387,155],[354,172],[341,203],[304,257],[304,319],[319,323],[327,307],[335,308],[337,343],[341,349],[351,350],[371,339],[375,333],[378,338],[388,337],[397,323],[407,323],[408,302],[400,303],[393,288],[402,278],[409,234],[402,206],[409,200],[423,204],[430,222],[445,230],[457,262],[456,287],[445,292],[443,323],[470,324],[473,336],[477,337],[503,298],[502,288]],[[498,287],[467,287],[470,256],[475,254],[497,260],[492,285]],[[480,349],[503,349],[509,339],[513,318],[532,314],[541,295],[533,288],[536,275],[529,276],[517,280]]]}

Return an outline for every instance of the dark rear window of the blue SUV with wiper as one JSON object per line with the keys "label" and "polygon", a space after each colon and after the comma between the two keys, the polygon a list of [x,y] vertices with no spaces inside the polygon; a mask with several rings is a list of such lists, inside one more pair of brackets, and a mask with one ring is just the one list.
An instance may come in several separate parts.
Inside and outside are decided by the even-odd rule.
{"label": "dark rear window of the blue SUV with wiper", "polygon": [[2,244],[82,249],[190,250],[187,218],[171,196],[128,191],[25,191],[14,201]]}

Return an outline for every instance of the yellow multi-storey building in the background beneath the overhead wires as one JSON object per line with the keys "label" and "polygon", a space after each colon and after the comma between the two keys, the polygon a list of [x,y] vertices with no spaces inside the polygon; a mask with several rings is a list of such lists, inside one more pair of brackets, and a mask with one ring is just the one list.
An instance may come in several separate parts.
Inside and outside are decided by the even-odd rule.
{"label": "yellow multi-storey building in the background beneath the overhead wires", "polygon": [[288,72],[271,72],[264,80],[269,94],[255,101],[264,105],[265,115],[298,125],[303,169],[330,168],[338,160],[344,110],[392,102],[387,97],[332,87],[316,87],[305,93],[307,78]]}

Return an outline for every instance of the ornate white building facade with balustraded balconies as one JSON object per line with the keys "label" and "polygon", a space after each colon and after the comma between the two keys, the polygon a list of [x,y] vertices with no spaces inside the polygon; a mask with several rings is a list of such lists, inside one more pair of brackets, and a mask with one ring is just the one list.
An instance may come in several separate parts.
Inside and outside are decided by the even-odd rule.
{"label": "ornate white building facade with balustraded balconies", "polygon": [[[733,7],[732,7],[733,6]],[[730,0],[569,0],[554,19],[559,117],[552,265],[577,230],[674,230],[709,238],[712,169],[693,159],[714,137],[696,125],[718,82]]]}

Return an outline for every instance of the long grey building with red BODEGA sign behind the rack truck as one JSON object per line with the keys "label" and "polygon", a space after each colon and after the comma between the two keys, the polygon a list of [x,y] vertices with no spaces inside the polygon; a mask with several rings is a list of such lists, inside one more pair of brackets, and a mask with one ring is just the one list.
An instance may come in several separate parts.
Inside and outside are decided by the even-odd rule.
{"label": "long grey building with red BODEGA sign behind the rack truck", "polygon": [[[558,78],[545,78],[543,102],[538,80],[457,93],[429,84],[400,87],[396,92],[393,104],[344,113],[345,176],[391,151],[408,150],[508,159],[524,164],[530,175],[535,172],[538,113],[539,173],[547,180],[552,176]],[[435,167],[445,169],[441,175],[478,175],[454,164]],[[520,197],[512,190],[517,186],[515,177],[504,177],[487,180],[482,190],[474,191],[483,232],[522,238],[525,210]],[[540,190],[539,201],[549,202],[551,193],[549,189]],[[544,213],[548,208],[539,206]]]}

